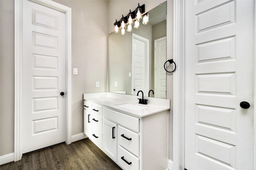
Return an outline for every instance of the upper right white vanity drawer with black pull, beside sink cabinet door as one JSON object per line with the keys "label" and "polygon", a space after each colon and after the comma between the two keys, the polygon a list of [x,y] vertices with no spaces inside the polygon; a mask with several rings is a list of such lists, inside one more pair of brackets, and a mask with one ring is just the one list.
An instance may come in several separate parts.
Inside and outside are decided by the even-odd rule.
{"label": "upper right white vanity drawer with black pull, beside sink cabinet door", "polygon": [[140,156],[140,135],[118,126],[118,144],[136,156]]}

